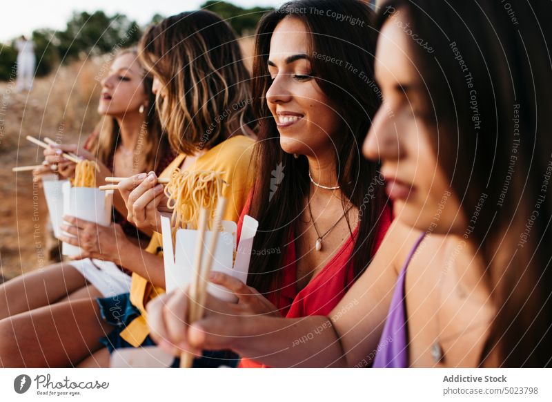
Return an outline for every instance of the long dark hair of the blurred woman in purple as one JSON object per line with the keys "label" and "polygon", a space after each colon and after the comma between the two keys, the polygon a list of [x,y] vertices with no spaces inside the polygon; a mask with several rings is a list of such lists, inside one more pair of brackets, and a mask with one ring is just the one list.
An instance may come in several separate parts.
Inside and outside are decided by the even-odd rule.
{"label": "long dark hair of the blurred woman in purple", "polygon": [[404,12],[410,32],[430,45],[409,41],[424,80],[426,123],[496,309],[480,364],[497,347],[502,366],[545,367],[552,359],[552,198],[539,196],[552,170],[552,97],[544,85],[552,7],[515,0],[509,7],[392,0],[380,26]]}

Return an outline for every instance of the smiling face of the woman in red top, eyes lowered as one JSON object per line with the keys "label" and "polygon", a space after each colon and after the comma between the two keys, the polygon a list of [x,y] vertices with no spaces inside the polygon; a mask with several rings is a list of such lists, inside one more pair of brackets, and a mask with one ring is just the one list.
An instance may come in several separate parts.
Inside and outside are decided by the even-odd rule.
{"label": "smiling face of the woman in red top, eyes lowered", "polygon": [[311,77],[306,26],[286,17],[276,26],[270,40],[268,72],[272,84],[266,92],[268,108],[287,153],[319,157],[333,152],[331,137],[339,120],[328,98]]}

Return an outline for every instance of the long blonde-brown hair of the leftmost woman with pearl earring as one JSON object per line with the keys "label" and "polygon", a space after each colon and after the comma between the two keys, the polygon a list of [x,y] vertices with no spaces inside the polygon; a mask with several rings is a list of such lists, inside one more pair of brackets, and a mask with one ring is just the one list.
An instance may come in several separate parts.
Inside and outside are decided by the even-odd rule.
{"label": "long blonde-brown hair of the leftmost woman with pearl earring", "polygon": [[[139,63],[138,52],[136,48],[128,48],[117,53],[116,57],[132,54],[136,57],[136,63]],[[139,140],[137,144],[141,146],[140,153],[145,155],[144,164],[140,166],[141,171],[157,171],[159,162],[170,153],[168,137],[161,127],[159,115],[155,108],[155,95],[152,92],[153,79],[150,75],[144,73],[142,85],[144,93],[148,97],[148,109],[146,110],[146,124],[141,126]],[[119,123],[117,119],[111,116],[104,116],[95,128],[95,137],[88,144],[89,151],[94,154],[103,164],[109,164],[119,145]]]}

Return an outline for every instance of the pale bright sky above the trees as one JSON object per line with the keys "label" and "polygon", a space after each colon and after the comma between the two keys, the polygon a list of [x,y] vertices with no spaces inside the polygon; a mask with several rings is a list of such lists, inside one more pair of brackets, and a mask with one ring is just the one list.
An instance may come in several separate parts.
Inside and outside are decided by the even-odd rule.
{"label": "pale bright sky above the trees", "polygon": [[[169,16],[195,10],[205,0],[10,0],[3,6],[0,22],[0,41],[9,41],[20,35],[30,36],[37,28],[63,30],[72,12],[103,10],[107,15],[125,14],[144,26],[153,15]],[[283,0],[229,0],[244,8],[279,6]]]}

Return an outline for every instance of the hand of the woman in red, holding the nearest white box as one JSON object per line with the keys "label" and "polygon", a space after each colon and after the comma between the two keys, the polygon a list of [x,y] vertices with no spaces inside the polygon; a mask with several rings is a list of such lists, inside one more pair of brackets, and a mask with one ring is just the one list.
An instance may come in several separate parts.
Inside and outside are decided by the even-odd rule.
{"label": "hand of the woman in red, holding the nearest white box", "polygon": [[257,289],[247,286],[241,280],[233,278],[222,272],[211,272],[210,281],[226,287],[232,291],[238,298],[238,307],[242,314],[246,316],[267,315],[281,317],[275,305],[262,296]]}

